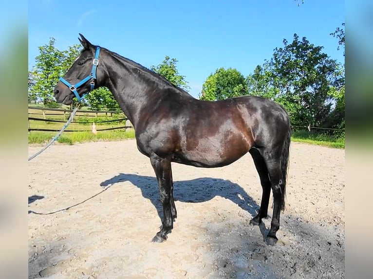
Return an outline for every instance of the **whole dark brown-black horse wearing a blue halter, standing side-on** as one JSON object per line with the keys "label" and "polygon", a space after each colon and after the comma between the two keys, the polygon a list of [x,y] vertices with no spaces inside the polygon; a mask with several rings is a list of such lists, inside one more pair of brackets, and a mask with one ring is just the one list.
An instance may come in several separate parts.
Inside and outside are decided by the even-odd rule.
{"label": "whole dark brown-black horse wearing a blue halter, standing side-on", "polygon": [[162,228],[152,239],[163,242],[177,216],[171,162],[202,168],[228,165],[249,152],[262,186],[261,207],[250,224],[273,216],[267,244],[276,244],[284,209],[290,121],[283,107],[255,96],[208,102],[193,98],[161,75],[79,34],[80,56],[57,83],[56,101],[70,105],[93,88],[105,86],[133,124],[138,150],[150,158],[163,205]]}

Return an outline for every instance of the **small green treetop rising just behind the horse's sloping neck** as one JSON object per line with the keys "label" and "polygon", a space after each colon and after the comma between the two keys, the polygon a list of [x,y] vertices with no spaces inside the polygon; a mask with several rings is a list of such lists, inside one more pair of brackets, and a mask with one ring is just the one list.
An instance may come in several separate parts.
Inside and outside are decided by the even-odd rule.
{"label": "small green treetop rising just behind the horse's sloping neck", "polygon": [[170,58],[169,56],[165,56],[163,62],[157,66],[151,66],[150,70],[159,73],[163,77],[165,77],[169,82],[172,84],[183,88],[184,90],[188,91],[190,87],[187,85],[188,82],[185,79],[184,75],[181,75],[176,68],[176,63],[178,60],[175,58]]}

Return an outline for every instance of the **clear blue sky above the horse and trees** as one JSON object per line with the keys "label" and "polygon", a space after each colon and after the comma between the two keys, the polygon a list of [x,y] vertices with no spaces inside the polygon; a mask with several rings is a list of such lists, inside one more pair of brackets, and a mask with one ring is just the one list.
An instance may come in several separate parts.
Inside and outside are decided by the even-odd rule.
{"label": "clear blue sky above the horse and trees", "polygon": [[244,76],[270,59],[285,38],[303,36],[339,62],[337,39],[344,1],[304,0],[29,0],[29,69],[38,46],[56,39],[60,50],[78,44],[78,33],[150,68],[165,55],[179,60],[189,93],[198,97],[207,76],[220,67]]}

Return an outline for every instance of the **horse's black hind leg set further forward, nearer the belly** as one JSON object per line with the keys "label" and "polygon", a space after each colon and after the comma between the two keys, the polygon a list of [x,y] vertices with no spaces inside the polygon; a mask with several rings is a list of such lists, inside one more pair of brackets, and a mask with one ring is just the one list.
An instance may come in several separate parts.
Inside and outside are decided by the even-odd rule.
{"label": "horse's black hind leg set further forward, nearer the belly", "polygon": [[255,167],[261,179],[262,188],[261,207],[258,215],[250,220],[250,224],[259,225],[261,223],[261,219],[267,217],[269,196],[271,194],[271,181],[269,180],[267,166],[260,152],[256,148],[251,148],[249,152],[253,157]]}

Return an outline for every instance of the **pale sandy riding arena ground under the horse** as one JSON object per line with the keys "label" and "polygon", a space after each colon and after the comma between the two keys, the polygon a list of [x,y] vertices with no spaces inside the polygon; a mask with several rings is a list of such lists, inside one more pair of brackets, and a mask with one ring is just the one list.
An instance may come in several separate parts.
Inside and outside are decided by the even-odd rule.
{"label": "pale sandy riding arena ground under the horse", "polygon": [[158,244],[158,188],[134,140],[56,144],[31,160],[29,278],[345,277],[344,150],[291,144],[276,246],[263,242],[271,205],[263,226],[249,225],[261,199],[250,154],[172,169],[178,218]]}

